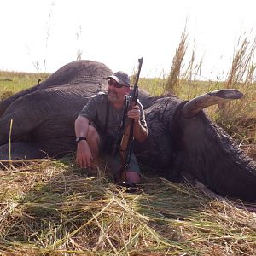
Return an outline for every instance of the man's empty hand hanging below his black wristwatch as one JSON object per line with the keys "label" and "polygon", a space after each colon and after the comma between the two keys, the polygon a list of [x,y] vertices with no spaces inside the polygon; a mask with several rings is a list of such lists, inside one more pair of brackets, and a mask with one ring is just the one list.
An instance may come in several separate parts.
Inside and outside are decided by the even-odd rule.
{"label": "man's empty hand hanging below his black wristwatch", "polygon": [[92,160],[92,154],[90,147],[86,141],[80,141],[78,143],[76,163],[82,168],[90,167]]}

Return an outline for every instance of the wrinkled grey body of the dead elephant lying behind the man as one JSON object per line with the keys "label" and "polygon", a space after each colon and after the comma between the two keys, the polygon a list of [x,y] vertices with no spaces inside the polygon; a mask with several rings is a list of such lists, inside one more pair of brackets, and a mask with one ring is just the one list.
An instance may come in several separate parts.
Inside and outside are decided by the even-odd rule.
{"label": "wrinkled grey body of the dead elephant lying behind the man", "polygon": [[[76,150],[74,120],[112,71],[95,61],[74,61],[49,79],[0,103],[0,160],[61,157]],[[189,174],[218,195],[256,201],[256,163],[201,111],[183,118],[176,96],[140,90],[148,138],[135,143],[138,161],[172,181]]]}

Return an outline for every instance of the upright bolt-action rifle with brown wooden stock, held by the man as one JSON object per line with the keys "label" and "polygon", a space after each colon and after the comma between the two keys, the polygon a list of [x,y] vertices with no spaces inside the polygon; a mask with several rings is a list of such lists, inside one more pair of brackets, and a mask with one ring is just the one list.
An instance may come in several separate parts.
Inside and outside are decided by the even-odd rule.
{"label": "upright bolt-action rifle with brown wooden stock, held by the man", "polygon": [[[137,96],[138,96],[138,79],[141,73],[141,69],[143,66],[143,58],[138,59],[138,67],[137,67],[137,76],[136,76],[136,80],[133,86],[133,90],[131,93],[131,102],[128,105],[128,108],[125,111],[125,116],[127,116],[127,112],[134,107],[135,105],[137,105]],[[118,173],[118,177],[117,177],[117,182],[121,182],[123,184],[120,184],[122,186],[127,187],[127,183],[126,182],[126,170],[129,166],[129,162],[130,162],[130,156],[131,156],[131,144],[133,142],[133,119],[130,119],[128,117],[126,117],[125,119],[125,128],[124,128],[124,132],[122,135],[122,139],[121,139],[121,143],[119,146],[119,154],[121,156],[121,160],[122,160],[122,167],[119,170]],[[129,185],[128,185],[129,187]]]}

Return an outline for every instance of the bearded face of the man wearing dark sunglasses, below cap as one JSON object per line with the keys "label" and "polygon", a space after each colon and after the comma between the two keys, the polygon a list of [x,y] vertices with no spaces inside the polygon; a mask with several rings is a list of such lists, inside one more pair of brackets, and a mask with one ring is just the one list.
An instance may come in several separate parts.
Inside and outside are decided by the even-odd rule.
{"label": "bearded face of the man wearing dark sunglasses, below cap", "polygon": [[118,84],[114,79],[108,80],[108,100],[113,103],[121,103],[125,100],[125,95],[130,92],[130,87]]}

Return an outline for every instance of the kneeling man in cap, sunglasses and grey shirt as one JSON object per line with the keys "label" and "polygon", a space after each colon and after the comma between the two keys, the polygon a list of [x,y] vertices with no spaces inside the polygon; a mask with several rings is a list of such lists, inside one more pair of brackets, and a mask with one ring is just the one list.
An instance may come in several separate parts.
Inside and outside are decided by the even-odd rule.
{"label": "kneeling man in cap, sunglasses and grey shirt", "polygon": [[[122,167],[119,152],[111,154],[119,129],[125,122],[125,108],[131,101],[131,96],[128,96],[131,91],[131,81],[128,74],[122,71],[113,73],[107,79],[108,94],[99,93],[92,96],[75,121],[78,143],[76,163],[80,167],[87,168],[91,166],[93,160],[96,160],[98,154],[106,154],[108,166],[113,171],[116,183],[137,184],[140,183],[140,171],[135,154],[131,151],[125,180],[120,180],[122,178],[118,175]],[[142,104],[137,102],[127,115],[134,120],[133,137],[138,142],[143,142],[148,136],[148,128]]]}

